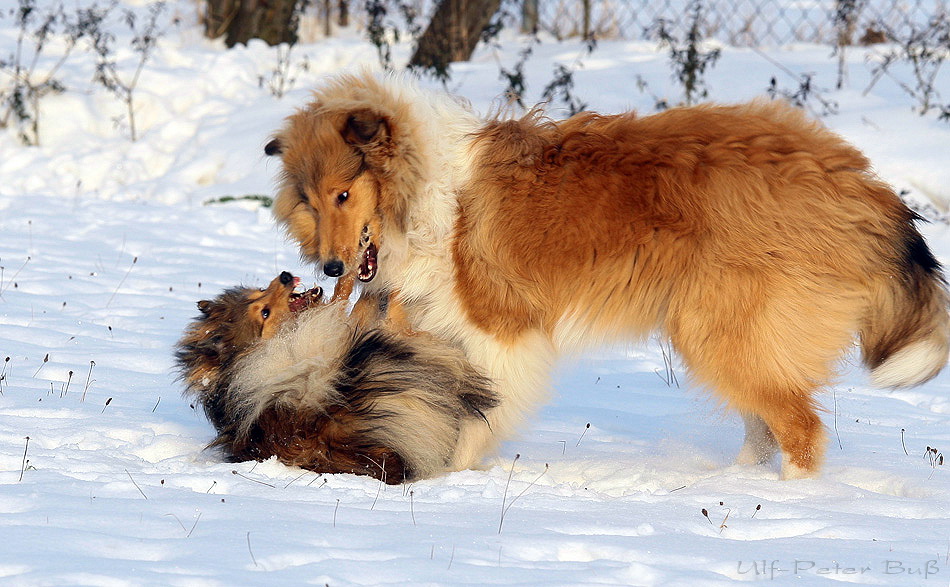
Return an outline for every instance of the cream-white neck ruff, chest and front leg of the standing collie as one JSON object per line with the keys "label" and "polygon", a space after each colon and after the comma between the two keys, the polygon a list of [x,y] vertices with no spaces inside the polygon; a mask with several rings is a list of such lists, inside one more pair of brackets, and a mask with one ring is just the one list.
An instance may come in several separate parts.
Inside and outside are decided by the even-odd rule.
{"label": "cream-white neck ruff, chest and front leg of the standing collie", "polygon": [[417,330],[460,345],[469,360],[495,383],[499,406],[483,422],[463,422],[453,468],[477,466],[500,440],[545,399],[555,351],[546,336],[529,333],[503,345],[467,319],[453,287],[452,242],[458,216],[456,191],[471,176],[471,135],[481,121],[467,107],[438,92],[427,92],[405,78],[384,81],[394,101],[411,104],[411,125],[424,143],[417,169],[422,193],[415,194],[405,234],[389,227],[382,236],[379,273],[370,290],[398,290]]}

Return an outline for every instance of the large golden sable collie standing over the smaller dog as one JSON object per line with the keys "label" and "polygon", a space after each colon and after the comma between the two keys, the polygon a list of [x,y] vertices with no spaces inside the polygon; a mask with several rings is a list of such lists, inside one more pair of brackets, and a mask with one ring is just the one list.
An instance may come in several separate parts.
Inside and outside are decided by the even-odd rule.
{"label": "large golden sable collie standing over the smaller dog", "polygon": [[815,392],[855,335],[884,387],[947,361],[947,293],[915,215],[782,103],[483,121],[406,79],[342,75],[265,152],[307,258],[357,273],[496,382],[458,468],[543,398],[558,354],[652,331],[743,415],[739,462],[781,448],[785,478],[820,469]]}

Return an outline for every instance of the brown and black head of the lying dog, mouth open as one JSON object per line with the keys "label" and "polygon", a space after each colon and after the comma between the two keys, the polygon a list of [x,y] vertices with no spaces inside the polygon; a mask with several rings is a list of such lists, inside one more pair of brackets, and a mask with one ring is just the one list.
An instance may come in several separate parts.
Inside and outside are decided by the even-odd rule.
{"label": "brown and black head of the lying dog, mouth open", "polygon": [[295,292],[299,283],[284,271],[264,289],[236,287],[198,302],[201,315],[185,330],[176,353],[189,389],[204,394],[226,385],[228,367],[254,343],[274,336],[294,313],[321,300],[319,287]]}

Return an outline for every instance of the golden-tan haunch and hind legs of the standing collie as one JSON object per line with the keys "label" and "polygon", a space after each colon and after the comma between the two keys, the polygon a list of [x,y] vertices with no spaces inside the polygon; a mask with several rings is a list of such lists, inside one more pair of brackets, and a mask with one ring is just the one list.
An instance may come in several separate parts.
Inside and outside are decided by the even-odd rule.
{"label": "golden-tan haunch and hind legs of the standing collie", "polygon": [[842,283],[832,290],[752,272],[704,285],[737,293],[684,297],[671,307],[667,328],[691,375],[745,416],[739,461],[767,460],[777,444],[782,477],[816,476],[825,433],[814,394],[852,343],[859,297]]}

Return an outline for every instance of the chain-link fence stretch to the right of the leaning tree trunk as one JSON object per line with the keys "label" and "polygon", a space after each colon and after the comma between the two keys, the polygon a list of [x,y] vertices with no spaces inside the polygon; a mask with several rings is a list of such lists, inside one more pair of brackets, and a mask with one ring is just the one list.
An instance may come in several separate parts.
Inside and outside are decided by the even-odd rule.
{"label": "chain-link fence stretch to the right of the leaning tree trunk", "polygon": [[[735,46],[833,44],[836,14],[844,3],[854,8],[853,43],[882,40],[882,30],[900,35],[947,10],[941,0],[705,0],[703,32]],[[660,19],[673,32],[688,28],[692,5],[690,0],[537,0],[537,25],[558,38],[643,39]]]}

